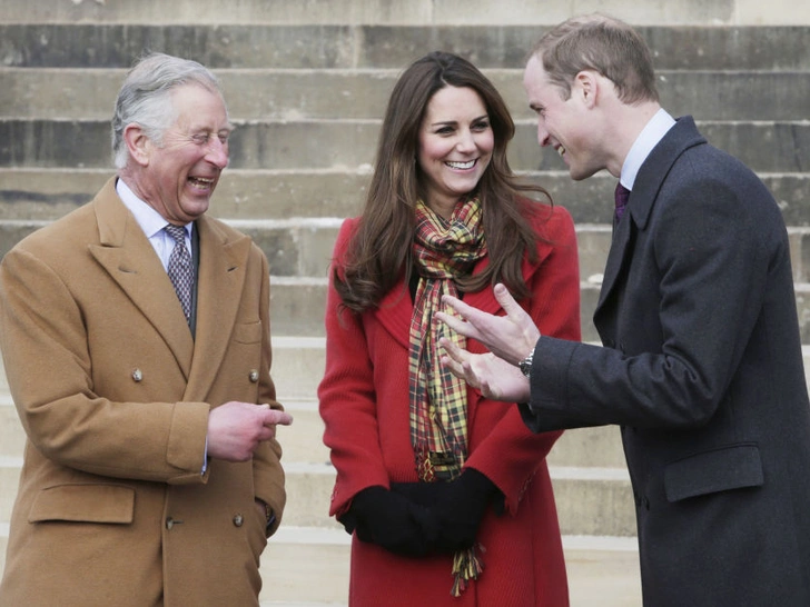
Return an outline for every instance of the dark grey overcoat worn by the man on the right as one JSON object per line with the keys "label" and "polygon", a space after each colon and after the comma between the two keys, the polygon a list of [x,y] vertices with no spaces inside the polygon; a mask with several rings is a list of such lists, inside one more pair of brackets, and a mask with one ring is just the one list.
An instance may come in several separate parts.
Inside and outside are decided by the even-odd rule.
{"label": "dark grey overcoat worn by the man on the right", "polygon": [[690,117],[642,165],[594,314],[542,337],[535,431],[621,426],[644,605],[810,606],[810,406],[772,196]]}

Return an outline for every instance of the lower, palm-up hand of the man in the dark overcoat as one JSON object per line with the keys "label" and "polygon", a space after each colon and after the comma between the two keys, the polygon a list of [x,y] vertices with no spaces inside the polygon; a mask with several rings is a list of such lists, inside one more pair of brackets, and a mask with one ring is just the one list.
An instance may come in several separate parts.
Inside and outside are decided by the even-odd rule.
{"label": "lower, palm-up hand of the man in the dark overcoat", "polygon": [[446,356],[442,357],[442,365],[454,376],[480,389],[486,398],[507,402],[529,402],[531,394],[529,378],[514,365],[492,352],[471,354],[446,338],[439,339],[438,344],[446,352]]}

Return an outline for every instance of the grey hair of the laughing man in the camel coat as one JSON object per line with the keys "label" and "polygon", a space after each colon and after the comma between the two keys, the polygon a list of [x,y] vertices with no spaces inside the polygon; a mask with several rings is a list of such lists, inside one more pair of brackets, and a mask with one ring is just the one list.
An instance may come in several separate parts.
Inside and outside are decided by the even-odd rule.
{"label": "grey hair of the laughing man in the camel coat", "polygon": [[112,116],[112,156],[116,168],[127,166],[129,153],[124,129],[137,123],[146,136],[162,145],[166,129],[177,119],[170,92],[184,84],[198,84],[223,97],[214,73],[197,61],[154,52],[140,59],[127,73]]}

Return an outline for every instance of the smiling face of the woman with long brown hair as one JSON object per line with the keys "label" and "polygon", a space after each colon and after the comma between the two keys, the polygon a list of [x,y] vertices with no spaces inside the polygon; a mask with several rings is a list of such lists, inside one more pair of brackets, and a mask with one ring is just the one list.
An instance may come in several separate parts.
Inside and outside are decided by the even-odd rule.
{"label": "smiling face of the woman with long brown hair", "polygon": [[427,105],[419,129],[418,163],[425,203],[448,218],[478,185],[495,138],[484,101],[468,87],[444,87]]}

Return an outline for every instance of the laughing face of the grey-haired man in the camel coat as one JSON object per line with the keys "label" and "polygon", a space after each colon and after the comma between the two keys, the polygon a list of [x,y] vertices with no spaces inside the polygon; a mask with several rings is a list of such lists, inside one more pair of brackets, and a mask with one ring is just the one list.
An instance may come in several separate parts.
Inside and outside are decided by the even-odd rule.
{"label": "laughing face of the grey-haired man in the camel coat", "polygon": [[161,146],[147,141],[147,163],[138,189],[167,221],[194,221],[208,210],[219,176],[228,166],[233,130],[223,98],[198,84],[171,91],[177,115]]}

